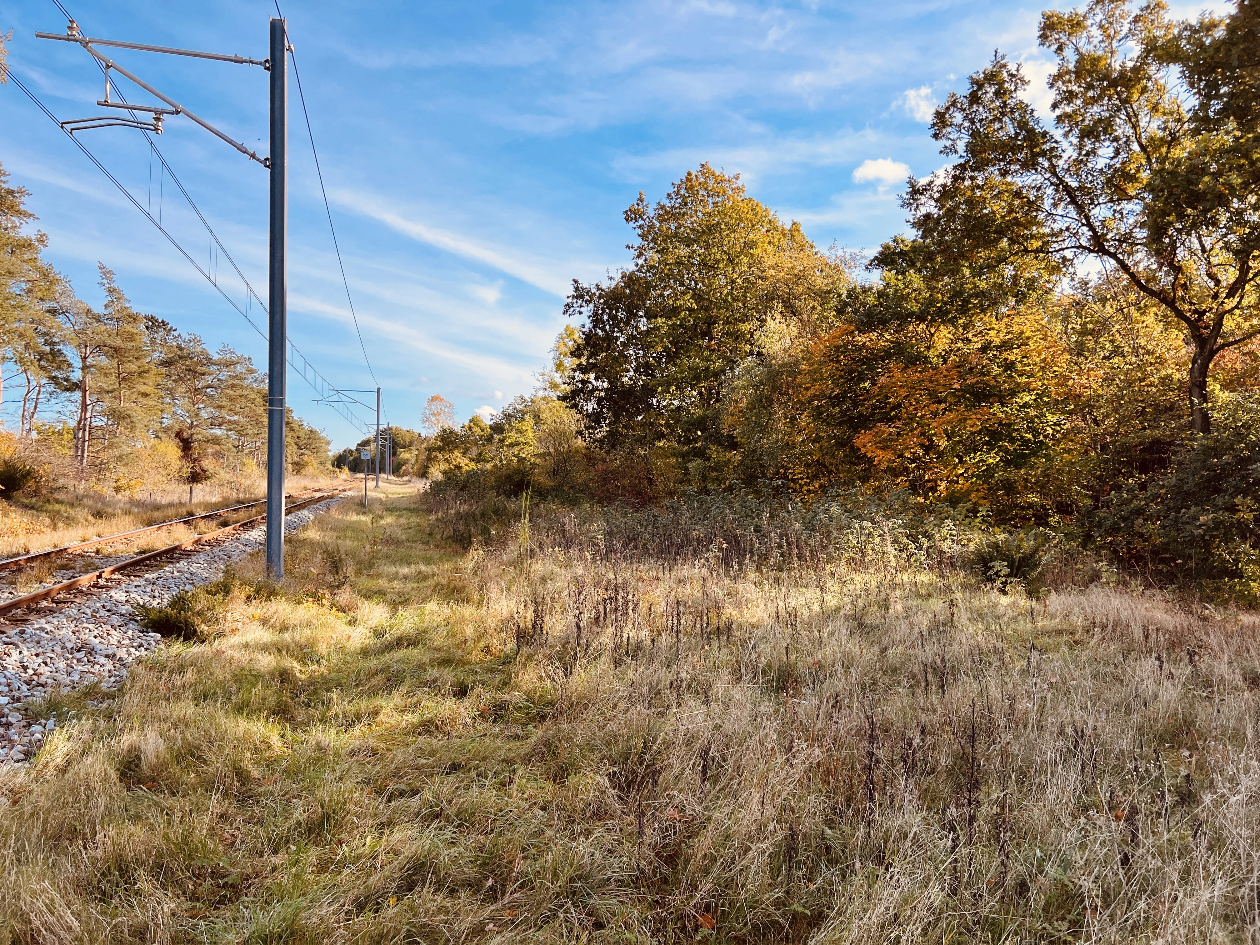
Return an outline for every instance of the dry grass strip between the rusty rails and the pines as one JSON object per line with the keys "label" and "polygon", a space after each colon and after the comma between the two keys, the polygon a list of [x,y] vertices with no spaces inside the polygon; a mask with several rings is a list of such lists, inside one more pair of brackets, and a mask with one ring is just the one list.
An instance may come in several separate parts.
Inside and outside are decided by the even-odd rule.
{"label": "dry grass strip between the rusty rails and the pines", "polygon": [[[328,481],[314,476],[290,476],[290,491],[311,489]],[[60,490],[49,496],[0,500],[0,558],[15,557],[29,552],[59,548],[64,544],[88,542],[102,536],[118,534],[134,528],[144,528],[159,522],[185,518],[215,508],[236,505],[262,499],[265,489],[260,485],[252,491],[234,493],[202,488],[197,501],[188,501],[188,486],[176,486],[164,494],[156,494],[152,500],[129,499],[118,495],[106,495],[92,490]],[[256,512],[241,513],[224,518],[218,524],[228,524],[248,518]],[[198,533],[217,525],[194,523]],[[142,538],[101,546],[101,554],[125,554],[152,551],[184,541],[194,534],[189,527],[181,525],[164,532],[159,537]],[[164,541],[170,536],[169,541]]]}

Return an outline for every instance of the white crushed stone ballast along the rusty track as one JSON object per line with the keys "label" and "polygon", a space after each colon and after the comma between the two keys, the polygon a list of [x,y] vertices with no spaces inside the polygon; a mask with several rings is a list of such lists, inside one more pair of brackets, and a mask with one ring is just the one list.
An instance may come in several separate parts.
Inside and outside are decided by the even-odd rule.
{"label": "white crushed stone ballast along the rusty track", "polygon": [[[310,524],[341,501],[328,499],[285,518],[285,533]],[[26,701],[40,701],[64,690],[100,682],[116,689],[127,665],[161,645],[161,636],[140,626],[137,606],[160,607],[180,591],[223,576],[233,561],[267,542],[267,529],[253,528],[229,542],[207,549],[161,571],[144,575],[105,591],[100,597],[73,604],[47,617],[4,627],[0,635],[0,762],[30,759],[44,742],[54,719],[33,723],[24,713]]]}

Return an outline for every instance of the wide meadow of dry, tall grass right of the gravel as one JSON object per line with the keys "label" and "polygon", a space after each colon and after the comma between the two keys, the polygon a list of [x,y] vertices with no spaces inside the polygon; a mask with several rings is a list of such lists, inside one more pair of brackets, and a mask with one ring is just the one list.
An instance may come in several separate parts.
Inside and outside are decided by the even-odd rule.
{"label": "wide meadow of dry, tall grass right of the gravel", "polygon": [[1252,615],[455,514],[344,503],[63,699],[0,940],[1255,940]]}

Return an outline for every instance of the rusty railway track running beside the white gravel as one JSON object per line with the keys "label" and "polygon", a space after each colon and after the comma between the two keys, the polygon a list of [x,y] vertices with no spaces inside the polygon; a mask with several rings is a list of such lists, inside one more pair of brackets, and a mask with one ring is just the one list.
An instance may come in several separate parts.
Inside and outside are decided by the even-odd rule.
{"label": "rusty railway track running beside the white gravel", "polygon": [[[333,488],[320,488],[309,489],[304,493],[295,493],[292,498],[296,501],[290,503],[285,507],[285,514],[289,515],[299,509],[305,509],[307,505],[315,505],[316,503],[325,501],[334,496],[341,495],[354,485],[340,485]],[[312,494],[314,493],[314,494]],[[45,552],[35,552],[34,554],[24,554],[20,558],[10,558],[9,561],[0,562],[0,570],[5,567],[23,567],[29,564],[32,561],[38,561],[40,558],[47,558],[53,554],[64,554],[73,552],[78,548],[94,547],[111,541],[117,541],[123,537],[132,537],[145,532],[154,532],[160,528],[170,528],[171,525],[183,524],[195,519],[212,518],[214,515],[222,515],[228,512],[236,512],[241,509],[247,509],[256,505],[265,504],[263,501],[246,503],[243,505],[233,505],[228,509],[218,509],[214,512],[202,513],[199,515],[190,515],[189,518],[179,519],[178,522],[163,522],[156,525],[149,525],[147,528],[139,528],[131,532],[122,532],[116,536],[107,536],[103,538],[96,538],[91,542],[82,542],[79,544],[64,546],[62,548],[52,548]],[[91,571],[84,575],[78,575],[67,581],[60,581],[49,587],[42,587],[38,591],[32,591],[30,593],[18,595],[15,597],[9,597],[0,601],[0,625],[3,624],[23,624],[32,620],[38,620],[49,615],[50,612],[58,610],[59,607],[68,606],[72,604],[81,604],[91,597],[98,596],[110,587],[126,583],[135,580],[135,577],[152,573],[154,571],[160,571],[170,564],[184,561],[186,558],[200,554],[209,548],[217,547],[226,542],[232,541],[239,532],[253,528],[266,520],[266,514],[255,515],[253,518],[247,518],[242,522],[236,522],[231,525],[224,525],[213,532],[207,532],[205,534],[195,536],[185,542],[178,542],[175,544],[168,546],[165,548],[159,548],[154,552],[147,552],[145,554],[137,554],[134,558],[122,561],[108,567],[100,568],[97,571]],[[15,563],[16,562],[16,563]]]}

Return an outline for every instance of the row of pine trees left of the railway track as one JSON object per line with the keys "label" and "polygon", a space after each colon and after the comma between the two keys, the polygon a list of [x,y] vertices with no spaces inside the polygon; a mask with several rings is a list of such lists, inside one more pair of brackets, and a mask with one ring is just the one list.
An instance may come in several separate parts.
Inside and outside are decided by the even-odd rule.
{"label": "row of pine trees left of the railway track", "polygon": [[[249,358],[207,349],[132,309],[100,266],[105,305],[79,299],[43,258],[26,192],[0,169],[0,485],[60,476],[135,495],[219,478],[248,481],[266,461],[267,383]],[[292,472],[329,467],[329,441],[289,415]],[[44,475],[37,475],[43,464]],[[54,476],[55,478],[55,476]]]}

